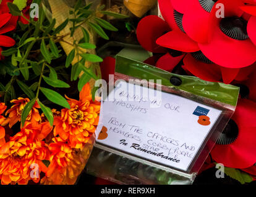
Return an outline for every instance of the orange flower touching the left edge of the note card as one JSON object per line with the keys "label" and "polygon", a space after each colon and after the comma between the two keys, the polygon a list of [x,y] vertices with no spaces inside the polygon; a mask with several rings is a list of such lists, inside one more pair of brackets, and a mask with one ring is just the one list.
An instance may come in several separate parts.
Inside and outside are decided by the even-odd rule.
{"label": "orange flower touching the left edge of the note card", "polygon": [[83,86],[79,100],[67,97],[70,109],[62,109],[61,116],[54,118],[54,136],[69,140],[71,148],[83,148],[95,132],[100,113],[100,102],[92,101],[90,85]]}

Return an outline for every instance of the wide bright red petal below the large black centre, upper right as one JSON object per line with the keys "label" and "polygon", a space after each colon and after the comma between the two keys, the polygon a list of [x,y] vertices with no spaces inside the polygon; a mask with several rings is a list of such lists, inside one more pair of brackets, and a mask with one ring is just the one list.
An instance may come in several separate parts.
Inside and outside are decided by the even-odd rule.
{"label": "wide bright red petal below the large black centre, upper right", "polygon": [[256,61],[256,46],[246,39],[229,38],[216,28],[209,43],[198,44],[203,54],[212,62],[227,68],[242,68]]}

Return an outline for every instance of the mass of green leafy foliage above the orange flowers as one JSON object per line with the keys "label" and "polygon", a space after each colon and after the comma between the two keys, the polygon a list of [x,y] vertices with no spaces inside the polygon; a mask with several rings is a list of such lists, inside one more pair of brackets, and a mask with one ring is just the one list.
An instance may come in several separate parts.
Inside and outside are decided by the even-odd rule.
{"label": "mass of green leafy foliage above the orange flowers", "polygon": [[[40,2],[40,0],[33,0],[33,3],[40,4]],[[26,0],[14,0],[13,3],[7,3],[12,15],[23,18],[25,17],[21,10],[26,5]],[[17,86],[22,90],[23,94],[30,98],[30,102],[25,105],[22,111],[22,125],[24,125],[30,110],[36,102],[40,105],[51,125],[53,124],[53,113],[46,105],[52,102],[61,107],[70,108],[66,98],[58,93],[59,88],[70,87],[70,84],[62,81],[67,79],[68,76],[68,74],[65,75],[68,72],[65,70],[71,69],[70,81],[78,80],[80,73],[83,72],[78,82],[79,90],[90,79],[99,78],[93,64],[90,68],[85,67],[86,62],[103,61],[98,55],[90,54],[90,50],[95,49],[96,46],[91,43],[88,31],[95,31],[101,38],[109,39],[105,30],[117,31],[117,28],[103,18],[96,17],[97,14],[111,15],[116,18],[126,18],[127,16],[103,11],[104,6],[101,6],[98,10],[91,9],[91,6],[92,4],[82,6],[82,0],[77,1],[74,9],[70,10],[70,17],[59,26],[56,26],[55,18],[49,20],[46,18],[45,11],[40,6],[38,20],[30,18],[28,25],[19,23],[22,34],[15,34],[19,42],[14,47],[2,51],[1,54],[6,56],[7,59],[4,62],[8,63],[0,62],[0,74],[9,74],[11,81],[7,82],[6,85],[0,83],[0,95],[4,97],[6,103],[11,99],[17,98],[14,88],[14,86]],[[61,31],[68,24],[72,24],[70,32],[62,34]],[[83,28],[84,24],[87,24],[90,29]],[[64,65],[56,65],[54,62],[66,55],[58,42],[64,42],[66,36],[74,36],[75,31],[78,29],[82,31],[83,38],[80,41],[75,40],[73,43],[67,42],[72,47],[72,50],[67,54],[66,63]],[[72,66],[71,68],[69,68],[70,65]],[[58,72],[59,70],[61,70],[61,73]],[[41,87],[41,85],[45,87]],[[96,89],[93,90],[93,92],[95,91]]]}

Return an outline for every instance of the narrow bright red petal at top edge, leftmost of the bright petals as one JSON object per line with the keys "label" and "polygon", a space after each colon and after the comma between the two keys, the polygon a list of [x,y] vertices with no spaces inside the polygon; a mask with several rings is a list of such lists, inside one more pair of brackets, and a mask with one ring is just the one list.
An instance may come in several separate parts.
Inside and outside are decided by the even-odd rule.
{"label": "narrow bright red petal at top edge, leftmost of the bright petals", "polygon": [[158,1],[158,4],[164,20],[168,23],[171,29],[181,31],[179,26],[177,26],[174,20],[174,15],[173,15],[174,10],[173,10],[173,6],[171,5],[171,1],[161,0],[161,1]]}

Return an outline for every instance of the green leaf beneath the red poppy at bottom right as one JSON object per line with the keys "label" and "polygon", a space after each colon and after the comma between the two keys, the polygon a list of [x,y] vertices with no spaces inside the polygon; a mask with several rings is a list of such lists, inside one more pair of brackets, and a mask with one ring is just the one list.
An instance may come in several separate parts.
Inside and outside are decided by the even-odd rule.
{"label": "green leaf beneath the red poppy at bottom right", "polygon": [[237,181],[239,181],[242,184],[250,183],[253,180],[249,174],[247,174],[246,172],[242,172],[239,169],[225,167],[224,172],[226,175],[228,175],[229,177],[231,177],[233,179],[236,179]]}

